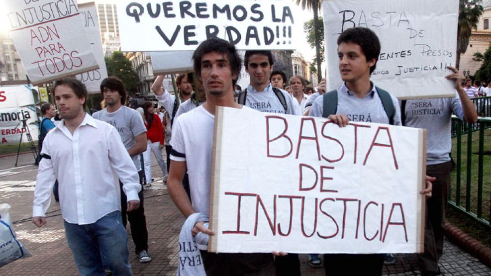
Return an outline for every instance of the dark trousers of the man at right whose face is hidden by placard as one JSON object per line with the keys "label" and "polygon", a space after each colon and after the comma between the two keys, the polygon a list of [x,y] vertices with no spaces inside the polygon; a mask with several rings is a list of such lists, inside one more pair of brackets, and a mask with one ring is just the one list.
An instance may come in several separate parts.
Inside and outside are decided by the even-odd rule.
{"label": "dark trousers of the man at right whose face is hidden by placard", "polygon": [[417,255],[421,271],[438,272],[438,260],[443,254],[445,212],[451,170],[451,161],[426,166],[426,175],[435,177],[436,180],[433,182],[432,196],[426,200],[424,252]]}

